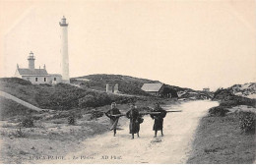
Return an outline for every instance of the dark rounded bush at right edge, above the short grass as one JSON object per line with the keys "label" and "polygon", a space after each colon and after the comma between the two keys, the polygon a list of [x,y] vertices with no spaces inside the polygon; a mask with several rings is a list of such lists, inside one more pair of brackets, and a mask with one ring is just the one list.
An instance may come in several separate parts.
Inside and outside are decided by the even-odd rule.
{"label": "dark rounded bush at right edge, above the short grass", "polygon": [[240,112],[239,127],[244,133],[255,134],[256,114],[252,112]]}

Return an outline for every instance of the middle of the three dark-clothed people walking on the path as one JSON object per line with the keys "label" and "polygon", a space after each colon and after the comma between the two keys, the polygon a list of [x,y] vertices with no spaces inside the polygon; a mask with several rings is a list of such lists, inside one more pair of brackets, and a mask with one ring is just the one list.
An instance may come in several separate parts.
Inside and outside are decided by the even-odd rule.
{"label": "middle of the three dark-clothed people walking on the path", "polygon": [[140,114],[138,109],[135,108],[135,104],[131,104],[131,109],[126,113],[126,117],[130,119],[129,130],[130,134],[132,134],[132,139],[134,139],[134,134],[137,134],[139,138],[140,123],[138,118],[140,118]]}

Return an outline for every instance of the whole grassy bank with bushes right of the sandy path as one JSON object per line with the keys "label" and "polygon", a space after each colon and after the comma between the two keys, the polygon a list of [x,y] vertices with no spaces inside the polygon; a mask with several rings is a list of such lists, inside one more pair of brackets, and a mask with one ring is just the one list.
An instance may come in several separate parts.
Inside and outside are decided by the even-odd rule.
{"label": "whole grassy bank with bushes right of the sandy path", "polygon": [[187,163],[253,163],[256,113],[229,113],[229,108],[255,107],[255,99],[236,96],[230,88],[218,89],[214,99],[220,101],[220,106],[211,108],[201,120]]}

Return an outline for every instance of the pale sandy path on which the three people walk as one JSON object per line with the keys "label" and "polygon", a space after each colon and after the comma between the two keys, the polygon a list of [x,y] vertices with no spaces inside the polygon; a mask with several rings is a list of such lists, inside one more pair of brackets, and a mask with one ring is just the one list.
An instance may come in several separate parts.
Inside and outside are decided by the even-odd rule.
{"label": "pale sandy path on which the three people walk", "polygon": [[[147,116],[141,125],[139,139],[130,139],[126,124],[121,127],[122,130],[117,131],[117,137],[112,137],[112,132],[109,132],[87,139],[83,142],[83,150],[71,152],[65,156],[65,160],[47,163],[185,163],[200,118],[207,114],[208,109],[217,105],[218,102],[213,101],[181,104],[178,107],[182,112],[166,115],[163,123],[164,137],[153,138],[154,121]],[[170,109],[170,106],[164,108]]]}

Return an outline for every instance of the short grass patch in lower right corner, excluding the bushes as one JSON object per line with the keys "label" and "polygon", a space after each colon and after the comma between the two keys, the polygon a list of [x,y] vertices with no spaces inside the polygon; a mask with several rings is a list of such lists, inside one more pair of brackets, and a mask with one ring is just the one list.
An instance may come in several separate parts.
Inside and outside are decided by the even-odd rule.
{"label": "short grass patch in lower right corner, excluding the bushes", "polygon": [[243,134],[236,114],[206,116],[201,120],[193,151],[192,164],[250,164],[255,160],[255,135]]}

